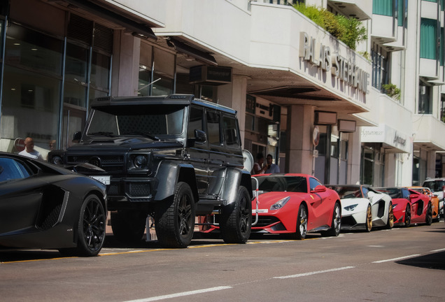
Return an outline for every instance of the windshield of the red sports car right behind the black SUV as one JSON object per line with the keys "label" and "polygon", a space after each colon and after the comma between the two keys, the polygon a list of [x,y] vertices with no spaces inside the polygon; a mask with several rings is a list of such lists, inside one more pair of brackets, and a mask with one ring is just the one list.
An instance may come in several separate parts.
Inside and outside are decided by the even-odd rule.
{"label": "windshield of the red sports car right behind the black SUV", "polygon": [[[263,192],[307,193],[307,180],[302,176],[257,176],[259,190]],[[256,188],[256,182],[253,182]]]}

